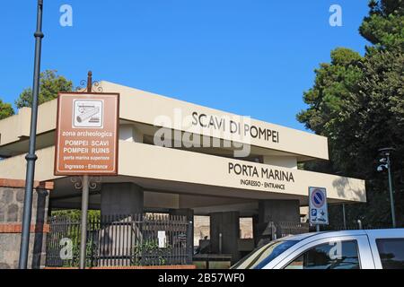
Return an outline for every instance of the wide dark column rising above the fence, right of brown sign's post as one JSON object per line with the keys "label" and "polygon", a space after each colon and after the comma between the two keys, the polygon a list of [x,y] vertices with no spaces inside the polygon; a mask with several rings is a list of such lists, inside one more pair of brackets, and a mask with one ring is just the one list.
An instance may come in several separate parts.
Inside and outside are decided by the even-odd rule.
{"label": "wide dark column rising above the fence, right of brown sign's post", "polygon": [[101,215],[143,213],[143,189],[134,183],[107,183],[101,187]]}

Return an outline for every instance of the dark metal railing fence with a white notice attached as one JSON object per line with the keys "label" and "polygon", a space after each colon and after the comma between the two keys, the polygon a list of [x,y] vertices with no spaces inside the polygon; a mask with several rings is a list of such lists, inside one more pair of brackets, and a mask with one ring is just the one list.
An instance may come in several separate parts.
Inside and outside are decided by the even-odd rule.
{"label": "dark metal railing fence with a white notice attached", "polygon": [[[168,214],[89,217],[86,266],[190,264],[189,224],[185,216]],[[57,216],[50,218],[49,225],[46,265],[77,267],[80,219]]]}

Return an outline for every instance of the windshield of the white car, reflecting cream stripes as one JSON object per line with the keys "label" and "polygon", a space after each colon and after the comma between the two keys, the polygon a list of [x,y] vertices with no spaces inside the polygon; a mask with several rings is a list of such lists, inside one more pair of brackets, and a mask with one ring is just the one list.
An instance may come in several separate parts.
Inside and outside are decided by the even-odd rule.
{"label": "windshield of the white car, reflecting cream stripes", "polygon": [[299,240],[276,240],[269,242],[267,245],[252,251],[250,255],[244,257],[236,265],[233,265],[232,269],[261,269],[297,242]]}

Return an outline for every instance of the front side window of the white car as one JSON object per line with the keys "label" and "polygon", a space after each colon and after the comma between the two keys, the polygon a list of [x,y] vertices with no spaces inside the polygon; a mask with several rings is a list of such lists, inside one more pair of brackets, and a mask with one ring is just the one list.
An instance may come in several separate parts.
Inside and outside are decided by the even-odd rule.
{"label": "front side window of the white car", "polygon": [[318,245],[294,259],[285,269],[360,269],[356,240]]}

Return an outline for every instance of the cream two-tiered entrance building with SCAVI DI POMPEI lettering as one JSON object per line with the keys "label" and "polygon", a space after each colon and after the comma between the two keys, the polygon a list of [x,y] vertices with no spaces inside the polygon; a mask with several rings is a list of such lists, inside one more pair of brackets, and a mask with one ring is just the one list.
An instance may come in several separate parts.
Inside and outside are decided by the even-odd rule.
{"label": "cream two-tiered entrance building with SCAVI DI POMPEI lettering", "polygon": [[[366,200],[364,180],[299,169],[329,160],[325,137],[115,83],[100,87],[120,93],[119,176],[93,178],[90,195],[101,215],[210,216],[210,253],[235,261],[258,244],[260,226],[300,222],[309,187],[326,188],[329,204]],[[0,121],[0,178],[25,178],[30,118],[24,108]],[[57,100],[40,105],[35,180],[53,182],[49,213],[81,207],[75,178],[54,176],[56,125]],[[241,240],[243,217],[252,218],[250,243]]]}

